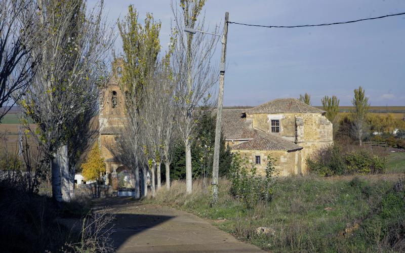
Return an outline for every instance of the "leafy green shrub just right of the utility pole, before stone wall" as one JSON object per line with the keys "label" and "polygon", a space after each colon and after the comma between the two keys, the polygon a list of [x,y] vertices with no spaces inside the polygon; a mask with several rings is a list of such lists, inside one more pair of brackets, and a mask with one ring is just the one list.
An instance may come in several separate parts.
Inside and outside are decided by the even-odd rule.
{"label": "leafy green shrub just right of the utility pole, before stone wall", "polygon": [[240,157],[239,153],[234,154],[229,169],[232,183],[232,195],[244,204],[246,208],[253,208],[260,200],[271,199],[274,178],[277,176],[274,167],[274,159],[267,156],[265,178],[257,174],[254,163],[249,162],[246,156]]}

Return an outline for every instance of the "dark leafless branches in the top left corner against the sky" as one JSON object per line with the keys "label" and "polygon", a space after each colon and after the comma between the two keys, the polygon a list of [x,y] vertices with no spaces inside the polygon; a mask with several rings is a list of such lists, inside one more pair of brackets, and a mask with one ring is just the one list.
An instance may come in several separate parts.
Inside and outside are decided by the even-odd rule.
{"label": "dark leafless branches in the top left corner against the sky", "polygon": [[0,121],[25,93],[40,60],[31,54],[34,15],[33,1],[0,0]]}

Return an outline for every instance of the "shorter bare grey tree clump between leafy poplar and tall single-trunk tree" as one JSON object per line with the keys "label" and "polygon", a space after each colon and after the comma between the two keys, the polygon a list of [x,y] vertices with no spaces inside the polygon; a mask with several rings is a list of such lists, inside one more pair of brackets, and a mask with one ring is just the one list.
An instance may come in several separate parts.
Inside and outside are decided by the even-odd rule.
{"label": "shorter bare grey tree clump between leafy poplar and tall single-trunk tree", "polygon": [[[173,37],[172,37],[173,39]],[[174,44],[172,44],[174,45]],[[143,123],[142,136],[147,148],[147,160],[152,160],[152,194],[154,194],[154,173],[156,170],[157,188],[161,187],[161,163],[164,161],[167,169],[166,178],[170,186],[171,148],[175,128],[175,86],[171,78],[170,53],[156,64],[154,71],[150,72],[145,86],[145,95],[140,110]],[[168,177],[169,176],[169,177]]]}

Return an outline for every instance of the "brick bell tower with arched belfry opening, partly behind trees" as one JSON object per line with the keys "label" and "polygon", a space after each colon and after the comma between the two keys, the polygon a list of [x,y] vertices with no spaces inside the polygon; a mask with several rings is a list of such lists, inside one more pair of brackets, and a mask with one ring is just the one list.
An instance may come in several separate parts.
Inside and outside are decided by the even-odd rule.
{"label": "brick bell tower with arched belfry opening, partly behind trees", "polygon": [[101,155],[104,157],[107,174],[124,169],[124,166],[114,159],[109,150],[109,146],[115,142],[114,133],[127,120],[124,95],[119,87],[121,72],[121,64],[115,62],[110,80],[103,90],[103,96],[100,97],[99,146]]}

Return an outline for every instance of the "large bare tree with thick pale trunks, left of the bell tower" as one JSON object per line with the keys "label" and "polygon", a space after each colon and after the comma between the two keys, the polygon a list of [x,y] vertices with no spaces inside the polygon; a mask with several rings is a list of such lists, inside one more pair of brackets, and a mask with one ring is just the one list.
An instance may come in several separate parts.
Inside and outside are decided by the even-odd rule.
{"label": "large bare tree with thick pale trunks, left of the bell tower", "polygon": [[[113,31],[102,19],[103,2],[88,11],[82,0],[37,0],[33,48],[41,57],[37,74],[19,103],[37,124],[32,132],[51,162],[52,194],[57,202],[70,199],[68,132],[89,113],[106,83],[104,63],[114,42]],[[63,192],[62,192],[63,189]]]}

